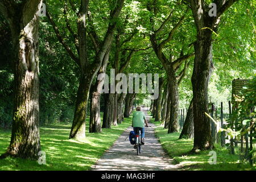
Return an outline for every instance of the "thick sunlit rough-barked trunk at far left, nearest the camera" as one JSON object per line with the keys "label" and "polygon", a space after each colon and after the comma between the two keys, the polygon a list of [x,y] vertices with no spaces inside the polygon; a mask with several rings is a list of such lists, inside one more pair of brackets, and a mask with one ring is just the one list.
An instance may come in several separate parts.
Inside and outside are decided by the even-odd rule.
{"label": "thick sunlit rough-barked trunk at far left, nearest the camera", "polygon": [[[0,2],[1,13],[10,23],[15,65],[15,104],[11,142],[7,152],[1,156],[3,158],[11,155],[24,159],[38,159],[40,151],[37,11],[41,3],[39,0],[24,1],[23,5],[15,6],[10,2]],[[12,11],[7,13],[8,9]]]}

